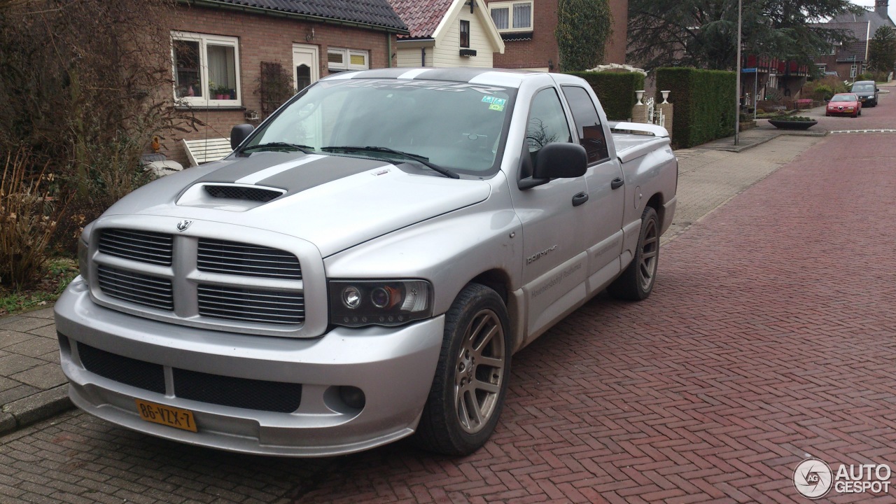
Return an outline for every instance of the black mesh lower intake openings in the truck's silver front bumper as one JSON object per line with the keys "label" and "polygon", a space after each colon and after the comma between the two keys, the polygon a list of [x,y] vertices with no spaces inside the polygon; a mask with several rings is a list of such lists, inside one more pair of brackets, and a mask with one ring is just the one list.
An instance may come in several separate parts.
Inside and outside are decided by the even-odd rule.
{"label": "black mesh lower intake openings in the truck's silver front bumper", "polygon": [[[160,364],[138,361],[78,344],[84,369],[131,387],[165,394],[165,369]],[[302,401],[302,385],[250,378],[234,378],[186,369],[171,369],[174,395],[201,403],[266,412],[292,413]]]}

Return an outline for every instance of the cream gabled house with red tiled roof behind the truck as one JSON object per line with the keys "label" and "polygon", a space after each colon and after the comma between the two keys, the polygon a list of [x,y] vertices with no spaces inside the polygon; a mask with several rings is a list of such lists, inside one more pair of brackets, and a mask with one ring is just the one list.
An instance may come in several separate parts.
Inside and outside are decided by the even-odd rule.
{"label": "cream gabled house with red tiled roof behind the truck", "polygon": [[410,33],[400,35],[398,66],[495,66],[504,52],[483,0],[389,0]]}

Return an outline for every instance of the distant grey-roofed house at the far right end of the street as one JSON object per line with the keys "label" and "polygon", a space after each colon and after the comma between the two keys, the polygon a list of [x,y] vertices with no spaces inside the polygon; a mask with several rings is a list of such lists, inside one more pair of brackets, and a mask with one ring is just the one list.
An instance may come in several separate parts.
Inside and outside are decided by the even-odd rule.
{"label": "distant grey-roofed house at the far right end of the street", "polygon": [[887,13],[889,4],[889,0],[875,0],[873,11],[840,14],[830,22],[815,25],[847,30],[856,38],[854,42],[833,46],[830,54],[816,58],[815,65],[818,65],[819,70],[823,73],[836,72],[843,80],[864,74],[868,63],[868,41],[874,38],[874,32],[882,26],[896,27]]}

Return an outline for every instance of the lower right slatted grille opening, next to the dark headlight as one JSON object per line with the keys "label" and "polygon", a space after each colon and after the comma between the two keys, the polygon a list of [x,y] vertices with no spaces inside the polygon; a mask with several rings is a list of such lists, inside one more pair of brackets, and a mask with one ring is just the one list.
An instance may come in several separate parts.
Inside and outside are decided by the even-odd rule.
{"label": "lower right slatted grille opening, next to the dark headlight", "polygon": [[297,326],[305,320],[305,298],[297,292],[200,285],[199,314],[203,317]]}

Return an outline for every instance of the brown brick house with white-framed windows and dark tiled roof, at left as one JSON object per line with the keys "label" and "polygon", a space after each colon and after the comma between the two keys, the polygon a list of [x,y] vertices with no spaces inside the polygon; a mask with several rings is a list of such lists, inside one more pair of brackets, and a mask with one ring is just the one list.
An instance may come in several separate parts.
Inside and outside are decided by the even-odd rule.
{"label": "brown brick house with white-framed windows and dark tiled roof, at left", "polygon": [[[181,139],[229,137],[263,116],[263,65],[280,65],[302,89],[345,70],[394,65],[407,28],[387,0],[181,0],[171,26],[173,98],[205,126],[166,135],[161,152],[185,166]],[[267,107],[270,109],[270,104]]]}

